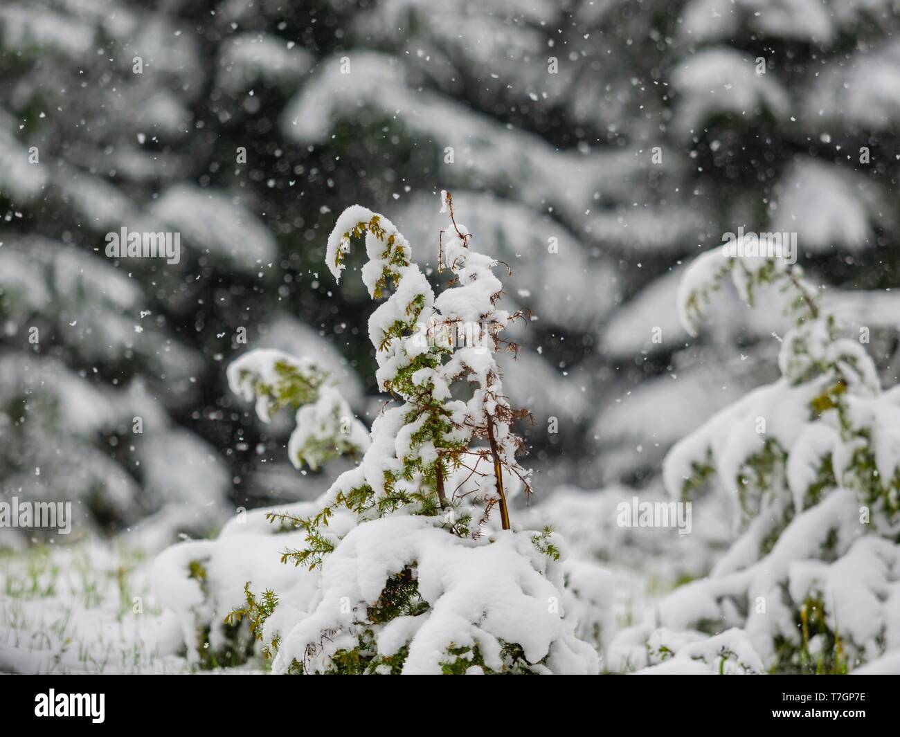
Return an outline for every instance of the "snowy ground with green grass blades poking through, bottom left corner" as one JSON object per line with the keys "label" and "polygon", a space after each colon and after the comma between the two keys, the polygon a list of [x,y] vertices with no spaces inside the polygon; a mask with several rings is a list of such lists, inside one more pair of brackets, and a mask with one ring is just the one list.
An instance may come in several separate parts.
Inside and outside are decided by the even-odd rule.
{"label": "snowy ground with green grass blades poking through, bottom left corner", "polygon": [[0,556],[0,671],[184,673],[150,559],[99,540]]}

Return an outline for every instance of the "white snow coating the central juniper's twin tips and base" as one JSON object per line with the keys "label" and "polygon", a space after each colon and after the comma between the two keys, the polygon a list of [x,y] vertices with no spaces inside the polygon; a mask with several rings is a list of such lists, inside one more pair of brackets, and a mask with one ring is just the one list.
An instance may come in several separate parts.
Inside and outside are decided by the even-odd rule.
{"label": "white snow coating the central juniper's twin tips and base", "polygon": [[[446,193],[442,194],[442,201],[452,219]],[[346,249],[351,234],[359,235],[359,223],[366,230],[369,260],[362,275],[370,294],[375,296],[379,281],[388,276],[393,277],[395,285],[387,301],[375,310],[369,325],[379,363],[380,387],[394,387],[401,370],[419,356],[433,358],[435,363],[424,364],[425,368],[414,374],[413,386],[419,389],[411,390],[411,394],[401,388],[402,383],[396,384],[404,404],[385,409],[375,419],[372,443],[360,465],[341,474],[320,499],[319,504],[325,508],[337,508],[342,503],[352,508],[344,500],[365,491],[374,495],[373,504],[355,509],[357,525],[353,529],[330,538],[334,547],[321,564],[321,578],[310,607],[305,611],[301,607],[278,607],[266,620],[264,640],[279,643],[273,669],[286,672],[300,663],[304,672],[327,672],[336,667],[338,653],[355,651],[368,638],[365,642],[376,646],[374,657],[382,659],[371,665],[376,672],[390,670],[385,659],[404,647],[404,673],[440,673],[457,658],[472,660],[476,653],[483,667],[490,670],[596,672],[597,653],[589,643],[576,637],[576,621],[564,616],[563,572],[555,564],[561,553],[551,555],[547,552],[550,548],[545,551],[541,547],[561,546],[561,539],[549,531],[543,536],[506,529],[498,533],[496,523],[476,523],[473,527],[470,522],[473,532],[468,535],[445,529],[447,514],[465,512],[475,519],[480,512],[473,508],[474,504],[491,508],[485,497],[493,491],[491,481],[481,490],[476,479],[474,488],[465,490],[464,496],[471,491],[480,493],[464,506],[459,500],[463,498],[457,498],[454,492],[450,501],[454,506],[445,515],[416,514],[415,500],[423,491],[428,493],[423,489],[424,472],[439,463],[438,443],[446,449],[453,447],[448,445],[451,442],[467,444],[476,434],[490,434],[496,463],[508,470],[511,479],[519,480],[508,480],[503,493],[511,495],[520,481],[529,476],[515,460],[518,439],[509,432],[505,416],[500,415],[506,405],[492,353],[496,336],[509,321],[509,314],[494,306],[502,290],[500,280],[492,274],[496,261],[473,251],[468,244],[468,230],[452,221],[455,237],[447,239],[444,253],[445,263],[456,274],[457,282],[436,299],[419,267],[410,263],[411,249],[406,239],[389,220],[357,206],[338,217],[329,237],[326,258],[336,276],[343,266],[337,260],[338,249]],[[413,342],[417,337],[416,321],[423,315],[430,318],[432,310],[439,316],[437,327],[459,321],[488,326],[488,345],[459,346],[455,355],[442,364],[449,348],[423,349]],[[465,403],[451,400],[445,404],[451,382],[461,378],[474,384],[472,398]],[[239,381],[235,385],[240,389]],[[446,415],[440,416],[452,419],[446,437],[422,436],[430,415],[417,412],[413,401],[423,406],[440,402],[442,409],[446,408]],[[303,408],[298,414],[299,432],[304,432],[305,423],[311,420],[302,417],[306,409],[310,408]],[[489,429],[482,429],[485,423],[489,423]],[[473,462],[476,471],[481,460],[482,456],[478,456]],[[408,466],[412,471],[406,470]],[[452,468],[451,472],[462,475],[465,471]],[[468,476],[471,478],[472,474]],[[458,491],[467,479],[456,484],[451,473],[447,481],[447,488]],[[500,476],[493,481],[499,485]],[[383,502],[392,503],[391,495],[398,493],[408,495],[409,500],[401,498],[394,508],[386,506],[385,514]],[[506,504],[502,495],[492,503],[497,502]],[[487,517],[487,512],[484,515]],[[506,527],[505,507],[503,515]],[[491,530],[494,532],[485,534]],[[581,602],[582,608],[589,606],[591,600],[601,600],[599,589],[608,578],[585,567],[575,572],[579,589],[565,594],[565,600]],[[419,611],[401,613],[400,618],[391,617],[388,623],[369,621],[369,610],[382,599],[387,582],[402,575],[415,581],[416,596],[421,599]],[[196,603],[187,598],[182,607],[191,609]],[[608,618],[584,614],[591,632],[594,625],[609,628]],[[504,653],[504,648],[513,644],[522,649],[524,664],[514,654]],[[451,652],[451,648],[462,648],[468,654],[461,656]]]}

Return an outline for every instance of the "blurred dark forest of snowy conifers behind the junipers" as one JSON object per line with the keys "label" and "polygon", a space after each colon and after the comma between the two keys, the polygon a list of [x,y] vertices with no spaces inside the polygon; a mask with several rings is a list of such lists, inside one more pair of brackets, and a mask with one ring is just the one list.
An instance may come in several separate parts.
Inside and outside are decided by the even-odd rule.
{"label": "blurred dark forest of snowy conifers behind the junipers", "polygon": [[[777,376],[779,310],[725,294],[691,340],[676,315],[682,263],[740,226],[796,232],[896,382],[898,5],[4,0],[4,498],[169,536],[315,497],[339,463],[296,472],[290,418],[261,425],[225,367],[315,355],[370,422],[372,308],[325,240],[359,202],[434,266],[442,188],[531,311],[505,383],[537,499],[656,489],[672,443]],[[122,227],[180,232],[180,263],[106,257]]]}

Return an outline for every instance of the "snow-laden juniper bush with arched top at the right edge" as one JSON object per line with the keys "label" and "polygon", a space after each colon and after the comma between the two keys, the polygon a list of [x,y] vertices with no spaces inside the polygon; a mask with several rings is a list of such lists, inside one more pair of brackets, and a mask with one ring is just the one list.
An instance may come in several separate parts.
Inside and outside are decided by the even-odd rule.
{"label": "snow-laden juniper bush with arched top at the right edge", "polygon": [[882,390],[864,338],[842,337],[798,267],[724,248],[689,268],[681,318],[696,334],[727,277],[751,306],[762,284],[778,286],[794,320],[779,338],[781,378],[675,445],[663,475],[678,499],[710,485],[728,495],[742,535],[619,638],[617,665],[653,663],[634,646],[653,626],[738,627],[764,670],[851,670],[900,648],[900,390]]}

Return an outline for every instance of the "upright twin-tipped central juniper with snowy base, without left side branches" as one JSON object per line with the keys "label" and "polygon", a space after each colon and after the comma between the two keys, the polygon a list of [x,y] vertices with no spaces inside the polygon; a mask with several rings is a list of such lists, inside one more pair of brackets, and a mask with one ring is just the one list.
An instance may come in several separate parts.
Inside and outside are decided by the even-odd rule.
{"label": "upright twin-tipped central juniper with snowy base, without left side branches", "polygon": [[[498,262],[470,249],[449,195],[444,202],[452,228],[449,238],[442,234],[442,266],[455,279],[437,298],[409,243],[382,215],[348,208],[329,238],[336,278],[352,238],[365,237],[370,295],[379,299],[392,287],[370,319],[369,337],[379,388],[395,404],[375,419],[362,462],[338,477],[318,513],[275,516],[303,535],[284,559],[320,571],[315,596],[302,607],[281,590],[257,596],[248,587],[246,606],[231,621],[250,620],[275,653],[276,672],[599,668],[565,616],[574,594],[564,590],[559,535],[512,529],[509,497],[530,487],[516,459],[523,443],[510,425],[525,413],[509,407],[495,354],[516,316],[495,306]],[[458,341],[464,333],[470,339]],[[257,374],[246,375],[257,382],[250,378]],[[353,525],[345,532],[347,514]],[[596,578],[575,579],[582,601],[597,598]]]}

